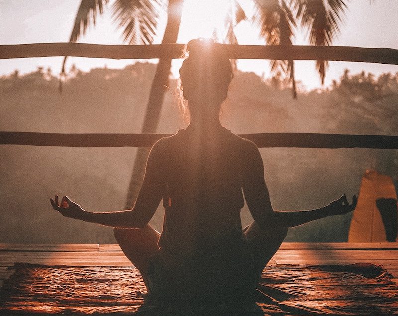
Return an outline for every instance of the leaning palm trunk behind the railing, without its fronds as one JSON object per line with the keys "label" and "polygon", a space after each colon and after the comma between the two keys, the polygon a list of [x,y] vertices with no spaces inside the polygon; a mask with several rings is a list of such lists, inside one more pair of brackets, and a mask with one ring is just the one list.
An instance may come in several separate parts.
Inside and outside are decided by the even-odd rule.
{"label": "leaning palm trunk behind the railing, without its fronds", "polygon": [[[177,42],[178,31],[180,29],[181,12],[183,0],[169,0],[167,6],[167,24],[163,35],[162,44]],[[155,77],[152,82],[149,100],[146,108],[144,123],[141,133],[156,133],[159,125],[160,114],[166,86],[169,82],[171,59],[159,59]],[[145,173],[146,160],[149,149],[140,147],[135,157],[133,172],[127,191],[125,208],[131,208],[137,198]]]}

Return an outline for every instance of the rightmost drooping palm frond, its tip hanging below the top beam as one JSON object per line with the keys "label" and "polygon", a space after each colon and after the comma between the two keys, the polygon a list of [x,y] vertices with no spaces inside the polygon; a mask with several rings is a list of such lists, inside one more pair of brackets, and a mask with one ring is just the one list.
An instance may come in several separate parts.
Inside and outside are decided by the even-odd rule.
{"label": "rightmost drooping palm frond, its tip hanging below the top beam", "polygon": [[[309,30],[310,45],[331,45],[340,31],[347,0],[291,0],[296,18]],[[322,84],[325,81],[328,62],[318,60],[316,68]]]}

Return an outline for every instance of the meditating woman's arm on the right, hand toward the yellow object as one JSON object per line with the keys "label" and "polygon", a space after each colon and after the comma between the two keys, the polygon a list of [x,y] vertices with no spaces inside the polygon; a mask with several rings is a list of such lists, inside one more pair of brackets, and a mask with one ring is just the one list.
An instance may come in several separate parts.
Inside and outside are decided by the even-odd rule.
{"label": "meditating woman's arm on the right, hand toward the yellow object", "polygon": [[307,211],[274,211],[264,179],[264,165],[260,152],[254,143],[248,145],[243,193],[254,220],[267,229],[270,226],[293,227],[331,215],[346,214],[355,209],[357,198],[349,204],[345,195],[329,205]]}

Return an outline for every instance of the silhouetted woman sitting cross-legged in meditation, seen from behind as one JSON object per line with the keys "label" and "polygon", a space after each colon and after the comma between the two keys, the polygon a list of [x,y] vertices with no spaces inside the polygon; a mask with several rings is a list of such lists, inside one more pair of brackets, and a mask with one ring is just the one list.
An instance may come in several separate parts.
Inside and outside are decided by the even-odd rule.
{"label": "silhouetted woman sitting cross-legged in meditation, seen from behind", "polygon": [[[152,147],[133,209],[91,213],[66,196],[51,204],[66,217],[114,227],[154,297],[251,300],[288,227],[348,213],[356,197],[351,205],[343,195],[316,210],[274,211],[258,148],[219,121],[232,79],[225,51],[203,39],[190,41],[187,51],[180,76],[190,124]],[[148,222],[162,199],[160,234]],[[242,230],[244,199],[254,221]]]}

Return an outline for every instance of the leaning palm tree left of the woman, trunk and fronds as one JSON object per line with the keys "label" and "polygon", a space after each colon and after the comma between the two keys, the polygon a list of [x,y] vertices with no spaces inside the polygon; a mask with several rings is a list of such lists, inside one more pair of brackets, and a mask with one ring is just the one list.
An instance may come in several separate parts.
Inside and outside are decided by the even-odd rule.
{"label": "leaning palm tree left of the woman, trunk and fronds", "polygon": [[[84,35],[90,23],[95,25],[97,14],[103,13],[104,6],[106,6],[108,2],[109,0],[81,1],[76,14],[70,42],[76,42],[81,35]],[[182,0],[168,1],[167,23],[162,44],[177,42],[182,5]],[[124,41],[129,44],[151,44],[156,32],[160,7],[161,2],[159,2],[159,0],[115,0],[112,5],[112,14],[114,21],[118,22],[119,27],[124,28]],[[65,75],[66,59],[67,57],[64,58],[62,64],[61,77]],[[149,94],[141,133],[156,132],[160,119],[165,87],[168,86],[170,67],[171,59],[159,59]],[[59,86],[61,91],[61,81]],[[127,191],[126,208],[132,206],[138,194],[144,176],[148,152],[147,148],[138,148]]]}

